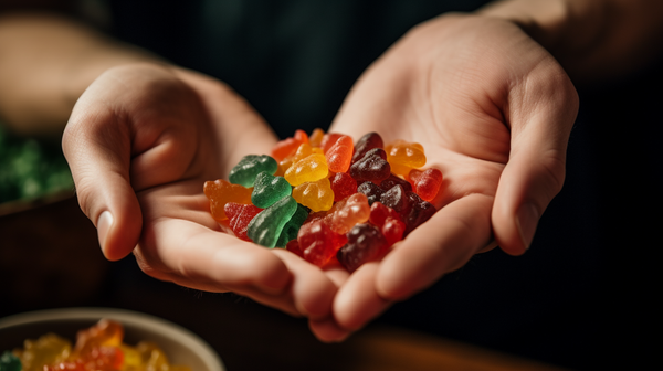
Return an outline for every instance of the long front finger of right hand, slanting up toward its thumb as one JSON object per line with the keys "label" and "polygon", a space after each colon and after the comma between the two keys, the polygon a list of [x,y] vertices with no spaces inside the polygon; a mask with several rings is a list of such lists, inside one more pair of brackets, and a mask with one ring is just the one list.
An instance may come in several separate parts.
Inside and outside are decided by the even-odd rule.
{"label": "long front finger of right hand, slanting up toward its thumb", "polygon": [[378,295],[402,300],[463,266],[491,243],[493,199],[470,194],[439,210],[417,227],[379,265]]}

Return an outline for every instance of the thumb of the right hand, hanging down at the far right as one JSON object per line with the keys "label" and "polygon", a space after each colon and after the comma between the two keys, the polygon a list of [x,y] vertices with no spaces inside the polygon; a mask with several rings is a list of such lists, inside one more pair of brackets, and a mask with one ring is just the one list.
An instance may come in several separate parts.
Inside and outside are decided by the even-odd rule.
{"label": "thumb of the right hand, hanging down at the far right", "polygon": [[509,98],[512,147],[497,186],[492,222],[497,243],[512,255],[529,247],[539,218],[561,190],[567,145],[578,112],[578,96],[566,74],[548,72],[546,76],[557,77],[522,84]]}

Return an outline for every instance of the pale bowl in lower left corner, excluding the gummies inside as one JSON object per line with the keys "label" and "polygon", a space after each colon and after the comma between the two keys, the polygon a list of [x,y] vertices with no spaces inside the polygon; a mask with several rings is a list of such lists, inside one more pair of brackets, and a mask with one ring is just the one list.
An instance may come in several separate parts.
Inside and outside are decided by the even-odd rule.
{"label": "pale bowl in lower left corner, excluding the gummies inside", "polygon": [[217,352],[191,331],[157,317],[110,308],[64,308],[0,318],[0,353],[48,332],[74,341],[78,330],[102,318],[114,319],[124,326],[125,343],[156,342],[173,364],[185,364],[193,371],[225,370]]}

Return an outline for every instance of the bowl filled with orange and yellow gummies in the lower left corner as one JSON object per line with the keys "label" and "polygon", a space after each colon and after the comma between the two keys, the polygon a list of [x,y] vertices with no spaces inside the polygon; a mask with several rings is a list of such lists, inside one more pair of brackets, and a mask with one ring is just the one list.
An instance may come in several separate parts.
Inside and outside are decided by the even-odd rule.
{"label": "bowl filled with orange and yellow gummies in the lower left corner", "polygon": [[109,308],[0,319],[0,371],[223,371],[214,350],[164,319]]}

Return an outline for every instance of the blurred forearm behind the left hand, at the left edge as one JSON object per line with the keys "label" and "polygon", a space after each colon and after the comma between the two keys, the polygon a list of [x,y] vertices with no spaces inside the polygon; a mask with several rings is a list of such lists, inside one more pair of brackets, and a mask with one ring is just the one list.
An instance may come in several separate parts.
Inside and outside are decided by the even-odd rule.
{"label": "blurred forearm behind the left hand, at the left edge", "polygon": [[77,98],[109,67],[156,61],[72,20],[0,17],[0,116],[25,135],[60,135]]}

